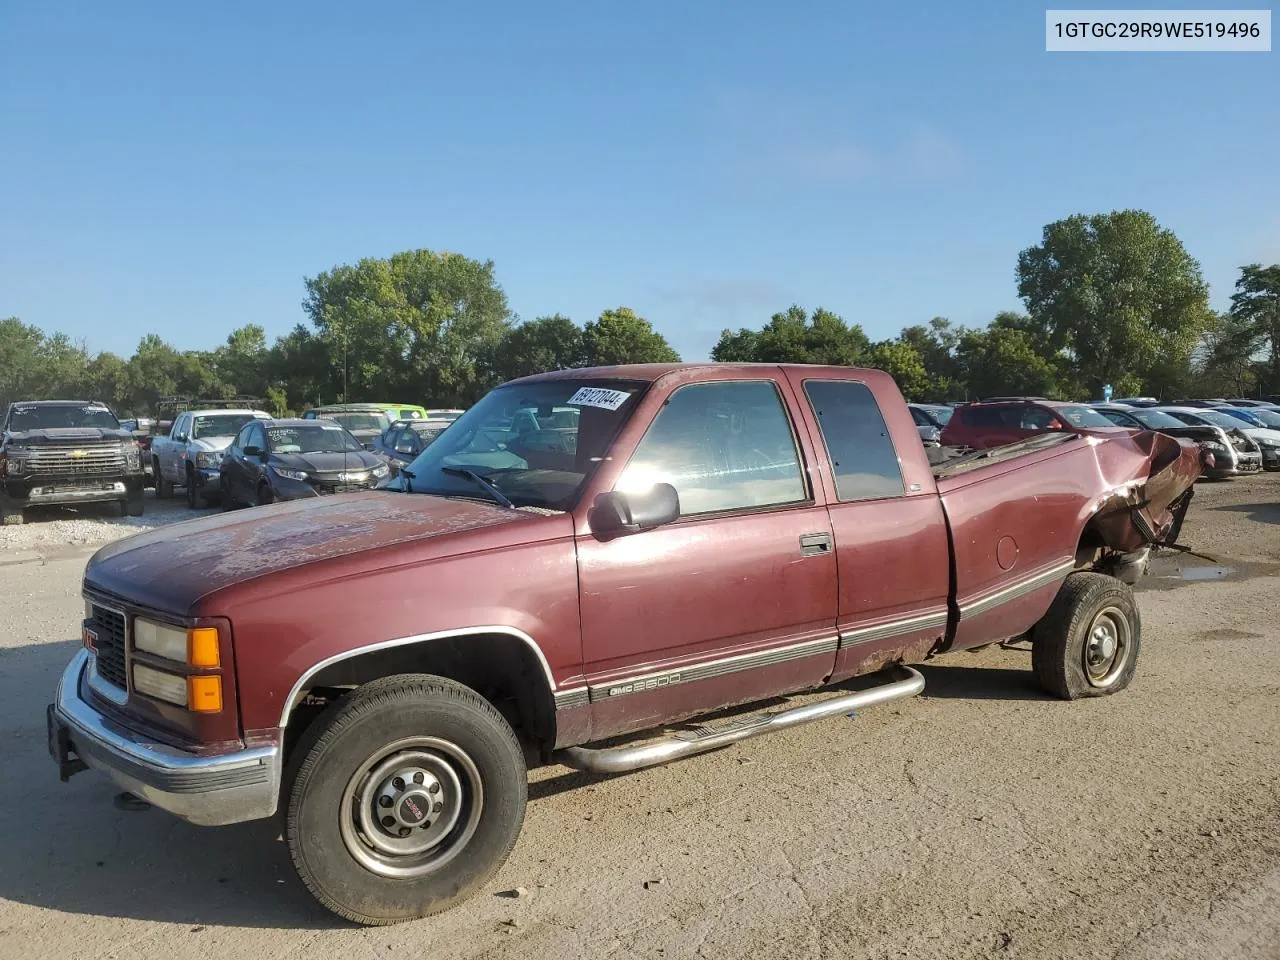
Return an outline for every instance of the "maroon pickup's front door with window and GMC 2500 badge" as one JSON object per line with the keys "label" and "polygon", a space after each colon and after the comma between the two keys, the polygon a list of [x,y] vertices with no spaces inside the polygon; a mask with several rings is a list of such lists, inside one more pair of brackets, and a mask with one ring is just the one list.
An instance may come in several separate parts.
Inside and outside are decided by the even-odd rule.
{"label": "maroon pickup's front door with window and GMC 2500 badge", "polygon": [[671,483],[678,520],[579,536],[593,736],[820,685],[836,554],[785,381],[692,383],[658,407],[616,489]]}

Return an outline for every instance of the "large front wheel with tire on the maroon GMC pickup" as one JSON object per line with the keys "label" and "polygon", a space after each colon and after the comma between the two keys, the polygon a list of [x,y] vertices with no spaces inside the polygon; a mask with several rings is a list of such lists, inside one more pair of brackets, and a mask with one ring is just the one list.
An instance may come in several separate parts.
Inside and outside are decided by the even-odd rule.
{"label": "large front wheel with tire on the maroon GMC pickup", "polygon": [[516,844],[527,799],[511,726],[470,687],[374,681],[297,746],[285,838],[328,910],[366,925],[466,900]]}

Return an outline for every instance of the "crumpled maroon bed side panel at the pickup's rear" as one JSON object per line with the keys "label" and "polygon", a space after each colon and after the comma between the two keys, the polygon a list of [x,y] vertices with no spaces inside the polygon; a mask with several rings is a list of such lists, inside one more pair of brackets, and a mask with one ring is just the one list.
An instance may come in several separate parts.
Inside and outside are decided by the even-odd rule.
{"label": "crumpled maroon bed side panel at the pickup's rear", "polygon": [[950,646],[1029,630],[1079,568],[1082,538],[1130,553],[1176,534],[1199,470],[1194,444],[1142,433],[937,471],[954,556]]}

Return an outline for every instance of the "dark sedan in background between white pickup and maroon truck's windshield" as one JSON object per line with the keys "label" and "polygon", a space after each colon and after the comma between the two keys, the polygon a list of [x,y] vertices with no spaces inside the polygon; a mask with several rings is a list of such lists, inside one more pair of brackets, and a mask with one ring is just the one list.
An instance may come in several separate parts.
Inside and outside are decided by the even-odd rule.
{"label": "dark sedan in background between white pickup and maroon truck's windshield", "polygon": [[370,490],[390,475],[346,428],[324,420],[256,420],[227,448],[223,509]]}

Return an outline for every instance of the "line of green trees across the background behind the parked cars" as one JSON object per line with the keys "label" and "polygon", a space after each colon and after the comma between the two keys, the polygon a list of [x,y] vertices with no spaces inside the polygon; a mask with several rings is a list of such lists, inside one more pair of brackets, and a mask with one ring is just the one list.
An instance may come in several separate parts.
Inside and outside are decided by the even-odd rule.
{"label": "line of green trees across the background behind the parked cars", "polygon": [[[1162,399],[1280,393],[1280,264],[1240,268],[1217,314],[1178,237],[1121,210],[1048,224],[1018,255],[1015,280],[1025,311],[983,328],[934,317],[873,342],[831,310],[792,305],[759,328],[722,332],[712,360],[876,366],[915,401],[1088,399],[1103,384]],[[93,398],[122,416],[154,413],[165,396],[260,397],[276,415],[365,399],[453,407],[541,370],[680,358],[628,307],[584,325],[558,314],[521,323],[493,261],[447,251],[365,259],[305,287],[307,321],[270,344],[248,324],[211,351],[148,334],[124,358],[0,320],[0,404]]]}

